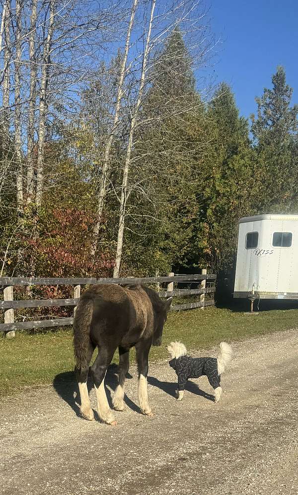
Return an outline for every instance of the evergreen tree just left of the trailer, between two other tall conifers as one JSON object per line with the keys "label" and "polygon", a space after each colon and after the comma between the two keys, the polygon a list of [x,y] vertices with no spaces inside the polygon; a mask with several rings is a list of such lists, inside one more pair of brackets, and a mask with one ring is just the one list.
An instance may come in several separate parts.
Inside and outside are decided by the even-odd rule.
{"label": "evergreen tree just left of the trailer, between two other tall conifers", "polygon": [[202,220],[194,242],[194,257],[198,265],[204,262],[218,271],[232,267],[238,219],[252,213],[260,184],[248,122],[239,116],[226,83],[216,90],[207,116],[209,145],[202,168]]}

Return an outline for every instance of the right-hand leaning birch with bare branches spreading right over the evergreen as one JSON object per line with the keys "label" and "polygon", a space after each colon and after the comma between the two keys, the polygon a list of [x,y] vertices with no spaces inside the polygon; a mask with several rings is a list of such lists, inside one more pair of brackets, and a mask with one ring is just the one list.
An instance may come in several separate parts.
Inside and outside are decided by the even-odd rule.
{"label": "right-hand leaning birch with bare branches spreading right over the evergreen", "polygon": [[[155,3],[153,7],[154,10]],[[190,115],[193,115],[194,117],[195,113],[200,111],[200,108],[203,108],[202,99],[195,94],[194,76],[192,76],[192,80],[188,82],[188,84],[193,86],[193,88],[189,90],[189,95],[187,98],[185,98],[186,93],[184,88],[179,87],[178,81],[182,81],[183,78],[188,78],[188,64],[182,66],[181,68],[179,67],[179,64],[177,67],[173,66],[177,62],[179,49],[177,51],[175,61],[171,60],[171,53],[166,54],[166,65],[163,65],[162,63],[159,64],[159,52],[160,47],[164,45],[165,41],[170,36],[175,37],[175,30],[177,29],[177,26],[179,26],[178,30],[181,31],[181,35],[185,34],[185,36],[189,39],[194,69],[197,69],[207,63],[209,52],[214,46],[214,40],[212,37],[209,37],[208,26],[204,25],[203,22],[205,20],[204,9],[200,13],[197,10],[200,7],[201,2],[181,1],[169,6],[168,10],[161,11],[160,6],[157,4],[157,13],[153,15],[152,18],[150,17],[149,25],[145,30],[147,34],[144,46],[142,69],[140,71],[140,82],[138,89],[136,89],[136,84],[133,83],[133,88],[131,90],[131,94],[134,96],[137,94],[137,96],[135,96],[134,103],[129,103],[131,119],[119,199],[120,214],[114,276],[119,275],[123,251],[124,231],[127,219],[130,217],[130,220],[133,221],[135,225],[138,225],[139,223],[140,235],[143,235],[141,233],[144,232],[141,224],[144,222],[147,224],[147,219],[150,218],[152,225],[154,221],[160,223],[161,218],[157,212],[158,210],[161,212],[160,205],[158,205],[161,197],[158,197],[156,194],[156,189],[154,192],[154,188],[157,186],[157,188],[160,189],[159,184],[167,182],[168,180],[175,182],[175,174],[178,174],[178,176],[179,173],[181,174],[182,163],[184,163],[188,168],[191,166],[189,161],[190,152],[187,150],[186,143],[183,143],[183,140],[185,140],[185,134],[187,134],[187,131],[186,133],[184,132],[183,126],[187,129],[190,126]],[[149,26],[151,29],[149,29]],[[149,34],[150,37],[148,38]],[[149,53],[153,55],[150,59]],[[168,72],[168,67],[171,67],[170,72]],[[179,71],[181,71],[181,74],[179,74]],[[131,72],[136,72],[135,67]],[[169,78],[172,78],[171,81],[169,81]],[[155,101],[151,99],[150,112],[147,112],[146,105],[151,95],[150,88],[152,85],[159,85],[160,81],[163,81],[164,83],[166,80],[167,90],[171,88],[171,86],[175,86],[176,94],[172,94],[171,90],[170,92],[165,92],[163,94],[162,104],[160,98],[155,99]],[[164,91],[164,87],[160,85],[159,91],[162,93]],[[189,122],[187,122],[187,120]],[[143,147],[143,153],[141,155],[139,154],[142,150],[142,145],[140,143],[140,139],[143,139],[142,132],[144,132],[144,129],[149,128],[155,128],[155,131],[157,129],[163,129],[163,135],[168,135],[168,144],[171,144],[172,146],[169,147],[167,151],[163,150],[162,154],[164,161],[165,163],[168,162],[167,167],[170,163],[173,163],[173,161],[179,161],[180,172],[178,170],[178,165],[176,170],[169,170],[167,167],[162,168],[162,162],[160,160],[156,160],[159,153],[157,150],[159,148],[159,144],[155,151],[154,146],[150,149],[150,145],[149,148],[147,147],[146,151],[145,145]],[[171,129],[175,129],[172,134]],[[175,134],[178,129],[183,129],[183,131],[181,131],[181,142],[179,142],[179,135]],[[195,146],[195,148],[198,147]],[[152,152],[153,155],[155,153],[153,161],[151,162],[149,160],[149,149],[150,153]],[[168,153],[168,157],[166,157],[165,153]],[[133,174],[131,174],[131,171],[133,171]],[[129,178],[130,175],[132,175],[131,179]],[[183,175],[186,176],[186,172],[183,173]],[[143,205],[147,203],[147,206],[143,212],[142,210],[138,210],[136,204],[131,204],[128,210],[128,199],[130,196],[133,198],[133,201],[136,200],[137,197],[144,197],[144,201],[140,200],[140,204],[141,202]],[[171,199],[169,197],[164,197],[164,205],[167,201],[171,201]],[[133,220],[133,217],[135,219],[139,218],[139,220],[135,221]],[[132,224],[130,223],[130,225]],[[153,229],[153,231],[154,230],[155,229]],[[136,235],[138,234],[136,233]]]}

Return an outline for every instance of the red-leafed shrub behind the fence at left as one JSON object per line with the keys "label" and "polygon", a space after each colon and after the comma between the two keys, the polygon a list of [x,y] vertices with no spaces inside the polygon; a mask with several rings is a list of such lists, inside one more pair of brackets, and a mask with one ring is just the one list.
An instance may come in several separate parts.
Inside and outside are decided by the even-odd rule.
{"label": "red-leafed shrub behind the fence at left", "polygon": [[[40,277],[109,277],[113,255],[105,247],[91,256],[94,217],[74,208],[42,211],[28,256]],[[30,262],[28,263],[30,264]],[[32,261],[31,261],[32,264]]]}

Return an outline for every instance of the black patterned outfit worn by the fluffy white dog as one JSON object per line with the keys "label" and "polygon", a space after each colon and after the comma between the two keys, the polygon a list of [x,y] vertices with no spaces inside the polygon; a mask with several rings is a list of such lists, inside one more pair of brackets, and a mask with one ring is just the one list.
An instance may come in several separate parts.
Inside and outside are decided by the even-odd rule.
{"label": "black patterned outfit worn by the fluffy white dog", "polygon": [[221,386],[221,375],[218,372],[216,357],[196,357],[180,356],[171,359],[169,365],[178,376],[178,390],[184,390],[189,378],[200,378],[206,375],[210,385],[216,389]]}

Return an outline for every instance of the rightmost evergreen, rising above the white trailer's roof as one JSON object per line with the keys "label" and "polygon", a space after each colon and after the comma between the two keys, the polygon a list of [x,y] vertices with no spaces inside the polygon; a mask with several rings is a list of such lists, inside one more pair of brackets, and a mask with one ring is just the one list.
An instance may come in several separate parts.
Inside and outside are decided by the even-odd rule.
{"label": "rightmost evergreen, rising above the white trailer's roof", "polygon": [[256,98],[258,116],[252,115],[251,128],[264,174],[264,209],[293,212],[298,195],[298,105],[290,106],[293,89],[282,67],[273,75],[272,85]]}

